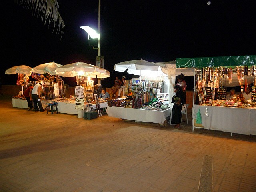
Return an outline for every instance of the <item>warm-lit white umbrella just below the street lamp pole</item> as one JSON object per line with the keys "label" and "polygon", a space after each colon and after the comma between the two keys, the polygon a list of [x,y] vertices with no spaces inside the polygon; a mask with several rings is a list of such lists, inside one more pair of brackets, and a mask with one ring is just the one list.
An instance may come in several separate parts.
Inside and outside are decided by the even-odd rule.
{"label": "warm-lit white umbrella just below the street lamp pole", "polygon": [[82,75],[92,78],[106,78],[110,76],[110,72],[106,69],[84,62],[71,63],[58,67],[55,72],[62,77]]}

